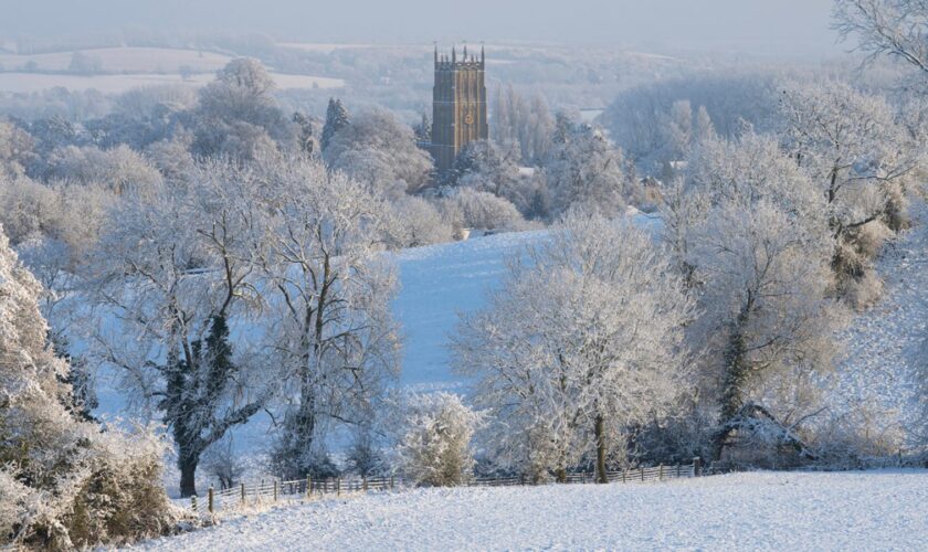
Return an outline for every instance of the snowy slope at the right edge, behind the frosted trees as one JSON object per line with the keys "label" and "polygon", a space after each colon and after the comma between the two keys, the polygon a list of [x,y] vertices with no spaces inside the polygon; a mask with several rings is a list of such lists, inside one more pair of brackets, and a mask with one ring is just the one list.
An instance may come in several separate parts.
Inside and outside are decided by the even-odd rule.
{"label": "snowy slope at the right edge, behind the frosted trees", "polygon": [[897,412],[906,427],[915,422],[913,361],[928,338],[928,214],[890,242],[877,265],[884,297],[856,316],[845,331],[846,360],[839,368],[840,400]]}

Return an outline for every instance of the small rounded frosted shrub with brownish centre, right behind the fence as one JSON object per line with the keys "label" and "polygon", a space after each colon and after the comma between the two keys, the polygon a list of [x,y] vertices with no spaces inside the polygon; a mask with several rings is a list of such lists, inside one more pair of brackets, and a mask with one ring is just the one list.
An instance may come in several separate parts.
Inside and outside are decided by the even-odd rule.
{"label": "small rounded frosted shrub with brownish centre, right behind the fence", "polygon": [[450,487],[474,471],[471,438],[483,414],[451,393],[413,395],[397,447],[400,469],[419,485]]}

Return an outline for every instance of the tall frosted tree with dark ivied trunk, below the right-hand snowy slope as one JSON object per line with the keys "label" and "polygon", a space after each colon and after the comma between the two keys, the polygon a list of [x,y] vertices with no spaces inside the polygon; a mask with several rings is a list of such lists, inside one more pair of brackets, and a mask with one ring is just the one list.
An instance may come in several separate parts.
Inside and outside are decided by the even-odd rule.
{"label": "tall frosted tree with dark ivied trunk, below the right-hand snowy slope", "polygon": [[710,453],[761,426],[798,445],[793,424],[818,406],[813,374],[835,352],[825,197],[774,139],[750,131],[705,140],[686,177],[664,197],[664,234],[699,300],[688,332],[707,347],[696,384],[702,406],[718,408]]}

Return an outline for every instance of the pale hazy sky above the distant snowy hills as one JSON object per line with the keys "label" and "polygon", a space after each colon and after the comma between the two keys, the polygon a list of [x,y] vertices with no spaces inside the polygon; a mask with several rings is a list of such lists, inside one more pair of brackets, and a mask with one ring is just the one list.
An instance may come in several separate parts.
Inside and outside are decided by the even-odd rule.
{"label": "pale hazy sky above the distant snowy hills", "polygon": [[310,42],[524,40],[836,53],[832,0],[0,0],[0,35],[262,33]]}

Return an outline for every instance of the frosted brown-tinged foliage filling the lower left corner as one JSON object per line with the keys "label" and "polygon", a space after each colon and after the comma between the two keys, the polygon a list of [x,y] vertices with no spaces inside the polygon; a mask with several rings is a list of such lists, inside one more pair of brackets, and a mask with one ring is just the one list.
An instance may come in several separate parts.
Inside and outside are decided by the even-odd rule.
{"label": "frosted brown-tinged foliage filling the lower left corner", "polygon": [[0,544],[70,550],[164,534],[176,514],[160,485],[162,443],[72,413],[41,293],[0,229]]}

